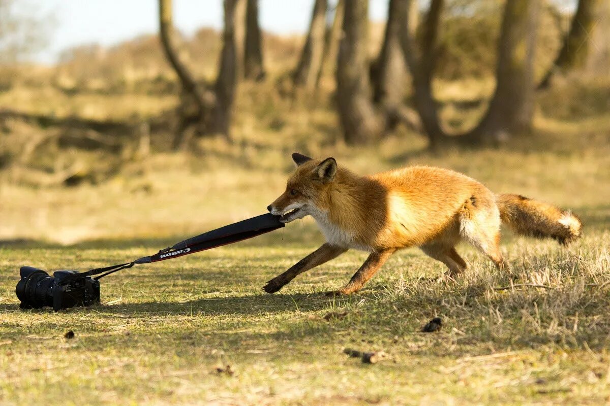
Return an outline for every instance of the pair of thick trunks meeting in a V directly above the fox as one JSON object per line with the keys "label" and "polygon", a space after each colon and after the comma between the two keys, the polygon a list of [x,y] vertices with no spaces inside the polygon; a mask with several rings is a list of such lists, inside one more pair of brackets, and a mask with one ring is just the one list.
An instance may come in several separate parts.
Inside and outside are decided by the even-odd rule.
{"label": "pair of thick trunks meeting in a V directly above the fox", "polygon": [[370,67],[368,0],[345,0],[344,7],[336,72],[343,139],[349,144],[376,141],[398,122],[419,128],[417,114],[403,102],[406,65],[400,47],[401,27],[407,20],[417,21],[411,14],[417,8],[406,0],[390,2],[379,58]]}

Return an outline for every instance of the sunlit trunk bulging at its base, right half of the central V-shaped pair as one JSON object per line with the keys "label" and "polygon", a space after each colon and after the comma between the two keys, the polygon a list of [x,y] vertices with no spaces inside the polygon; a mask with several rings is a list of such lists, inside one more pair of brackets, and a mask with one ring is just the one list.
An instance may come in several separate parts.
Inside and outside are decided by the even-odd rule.
{"label": "sunlit trunk bulging at its base, right half of the central V-shaped pair", "polygon": [[391,109],[401,105],[406,90],[406,66],[400,48],[400,30],[409,18],[408,3],[390,0],[384,41],[373,75],[373,101]]}

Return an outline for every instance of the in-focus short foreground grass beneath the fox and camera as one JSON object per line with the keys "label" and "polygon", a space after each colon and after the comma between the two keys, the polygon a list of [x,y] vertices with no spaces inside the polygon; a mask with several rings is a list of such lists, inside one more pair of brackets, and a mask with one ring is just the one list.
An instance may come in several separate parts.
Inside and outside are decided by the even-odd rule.
{"label": "in-focus short foreground grass beneath the fox and camera", "polygon": [[[122,271],[103,280],[102,305],[60,313],[16,309],[13,287],[21,265],[95,267],[154,250],[142,242],[111,250],[86,244],[2,249],[0,402],[610,399],[607,231],[569,250],[509,237],[504,251],[512,267],[505,275],[465,248],[473,265],[467,275],[437,280],[443,268],[407,250],[361,293],[327,298],[323,292],[344,284],[364,260],[365,254],[350,252],[278,294],[262,293],[265,281],[315,247],[314,237],[284,248],[285,234],[310,231],[289,226],[233,247]],[[338,317],[325,320],[331,312]],[[419,332],[436,316],[443,319],[442,331]],[[70,330],[75,337],[64,338]],[[365,365],[346,357],[344,347],[383,350],[391,359]],[[235,374],[217,373],[224,365]]]}

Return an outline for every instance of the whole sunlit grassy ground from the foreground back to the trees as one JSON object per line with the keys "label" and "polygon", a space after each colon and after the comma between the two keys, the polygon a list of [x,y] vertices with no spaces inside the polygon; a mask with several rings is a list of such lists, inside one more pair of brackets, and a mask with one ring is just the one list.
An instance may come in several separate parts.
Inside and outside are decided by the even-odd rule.
{"label": "whole sunlit grassy ground from the foreground back to the trees", "polygon": [[[429,153],[422,136],[405,130],[375,147],[346,147],[328,139],[338,133],[332,110],[304,114],[265,99],[238,114],[232,144],[157,150],[96,184],[32,186],[0,173],[0,404],[609,402],[610,116],[604,103],[583,110],[592,103],[580,97],[541,96],[534,134],[499,148]],[[506,273],[460,247],[472,268],[456,281],[420,251],[403,250],[361,292],[324,296],[364,261],[349,251],[265,294],[268,279],[323,242],[306,219],[108,276],[98,306],[18,309],[22,265],[120,263],[262,214],[284,190],[294,150],[334,156],[359,173],[411,164],[459,170],[495,192],[572,209],[584,237],[564,248],[506,232]],[[420,332],[434,317],[442,329]],[[389,359],[367,365],[345,348]]]}

